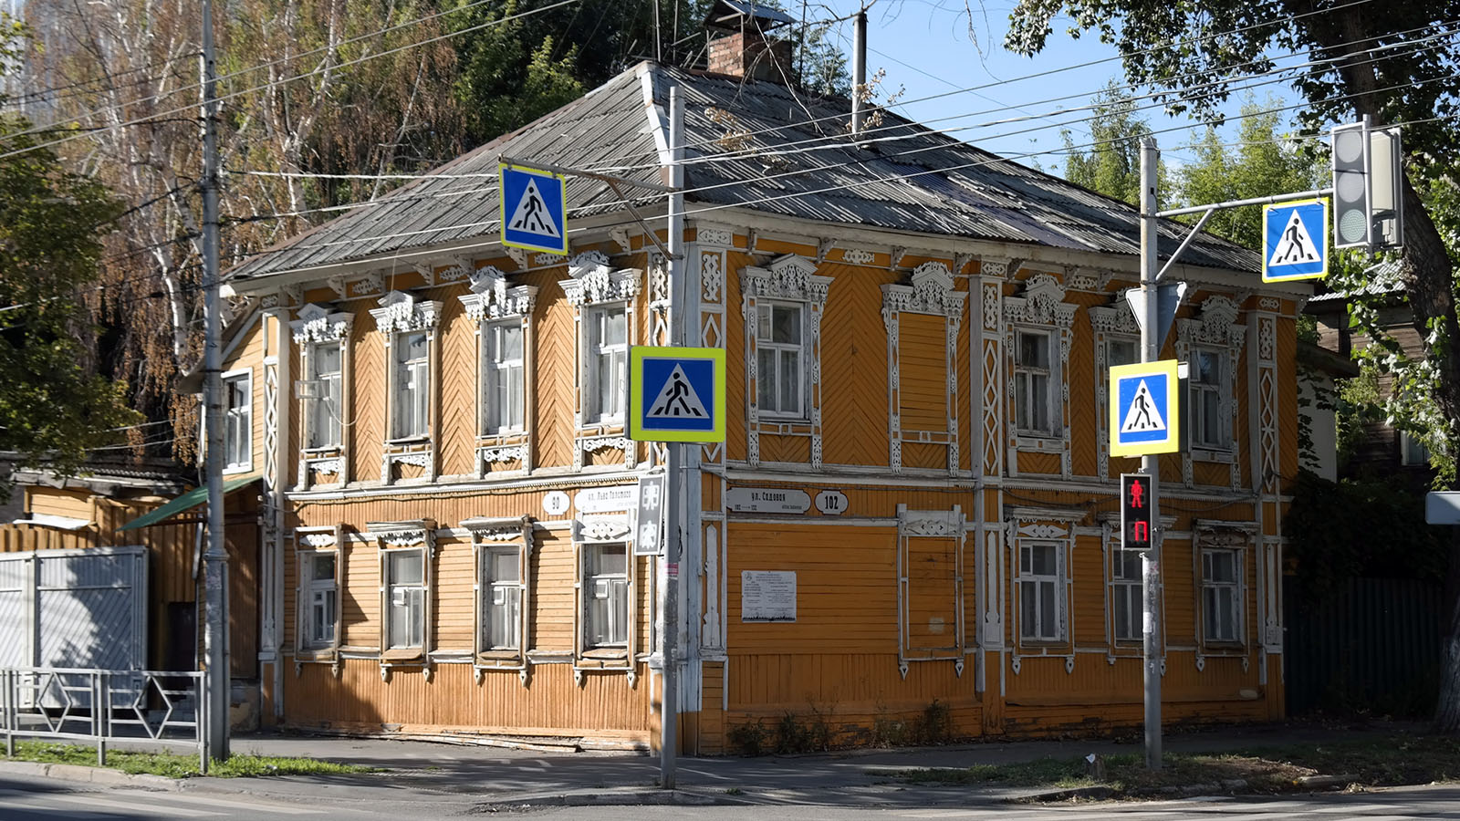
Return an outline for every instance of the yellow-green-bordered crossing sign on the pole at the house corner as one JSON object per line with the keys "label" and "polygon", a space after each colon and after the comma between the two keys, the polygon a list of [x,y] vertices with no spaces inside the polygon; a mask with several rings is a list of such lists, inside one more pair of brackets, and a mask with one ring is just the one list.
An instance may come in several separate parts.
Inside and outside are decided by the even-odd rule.
{"label": "yellow-green-bordered crossing sign on the pole at the house corner", "polygon": [[726,441],[724,349],[631,348],[629,438]]}

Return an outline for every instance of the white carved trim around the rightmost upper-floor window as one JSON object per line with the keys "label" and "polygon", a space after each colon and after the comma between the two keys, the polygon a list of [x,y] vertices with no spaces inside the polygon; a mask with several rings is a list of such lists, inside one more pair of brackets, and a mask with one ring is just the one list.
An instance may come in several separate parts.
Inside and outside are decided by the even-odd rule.
{"label": "white carved trim around the rightmost upper-floor window", "polygon": [[[1241,466],[1237,459],[1237,365],[1242,356],[1242,343],[1247,340],[1247,326],[1237,321],[1241,313],[1241,307],[1234,298],[1213,294],[1202,302],[1196,318],[1177,320],[1177,358],[1194,367],[1193,356],[1197,349],[1216,351],[1223,355],[1222,375],[1226,383],[1219,412],[1226,419],[1226,446],[1202,447],[1193,443],[1184,450],[1181,453],[1181,473],[1187,485],[1194,484],[1194,462],[1216,462],[1229,466],[1231,488],[1241,486]],[[1193,386],[1190,390],[1196,390],[1196,387]],[[1191,396],[1187,393],[1181,399],[1190,403]]]}

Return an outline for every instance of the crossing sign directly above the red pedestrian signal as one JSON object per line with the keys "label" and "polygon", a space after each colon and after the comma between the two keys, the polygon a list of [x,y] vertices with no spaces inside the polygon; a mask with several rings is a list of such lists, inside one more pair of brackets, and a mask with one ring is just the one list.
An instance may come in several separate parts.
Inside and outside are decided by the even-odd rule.
{"label": "crossing sign directly above the red pedestrian signal", "polygon": [[1181,450],[1181,392],[1177,361],[1110,370],[1110,454],[1146,456]]}

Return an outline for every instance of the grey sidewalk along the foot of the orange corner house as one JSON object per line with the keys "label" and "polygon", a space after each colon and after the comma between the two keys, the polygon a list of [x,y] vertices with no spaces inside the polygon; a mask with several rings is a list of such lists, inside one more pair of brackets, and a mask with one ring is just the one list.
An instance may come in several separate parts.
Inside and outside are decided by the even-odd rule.
{"label": "grey sidewalk along the foot of the orange corner house", "polygon": [[[1350,729],[1314,723],[1251,725],[1168,735],[1164,746],[1174,752],[1221,752],[1294,742],[1353,739],[1393,730],[1397,726],[1400,725],[1375,723]],[[531,803],[802,803],[894,808],[958,803],[967,806],[1003,802],[1042,790],[907,786],[895,779],[895,773],[910,768],[1075,758],[1091,752],[1140,754],[1142,746],[1111,741],[991,741],[758,758],[680,757],[676,765],[676,790],[658,789],[658,755],[540,752],[474,744],[293,735],[235,736],[232,751],[362,764],[384,771],[327,777],[188,779],[174,783],[175,789],[247,793],[314,803],[399,801],[409,795],[412,801],[464,799],[477,806]],[[0,771],[19,765],[19,763],[0,763]],[[174,784],[149,782],[146,786],[156,789]]]}

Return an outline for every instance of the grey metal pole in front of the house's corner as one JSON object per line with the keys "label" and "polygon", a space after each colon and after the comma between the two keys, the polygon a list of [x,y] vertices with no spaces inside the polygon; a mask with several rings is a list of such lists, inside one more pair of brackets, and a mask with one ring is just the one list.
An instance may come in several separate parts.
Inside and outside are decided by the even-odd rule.
{"label": "grey metal pole in front of the house's corner", "polygon": [[[679,96],[679,86],[669,86],[669,186],[675,191],[669,196],[669,343],[685,343],[685,318],[689,301],[685,294],[685,101]],[[667,443],[669,472],[666,478],[664,500],[664,631],[660,641],[664,647],[664,668],[661,682],[664,687],[660,700],[660,748],[658,748],[658,784],[675,789],[675,755],[679,746],[679,660],[675,657],[676,640],[679,638],[679,557],[682,532],[679,516],[685,510],[685,478],[680,470],[685,466],[685,446],[682,443]]]}

